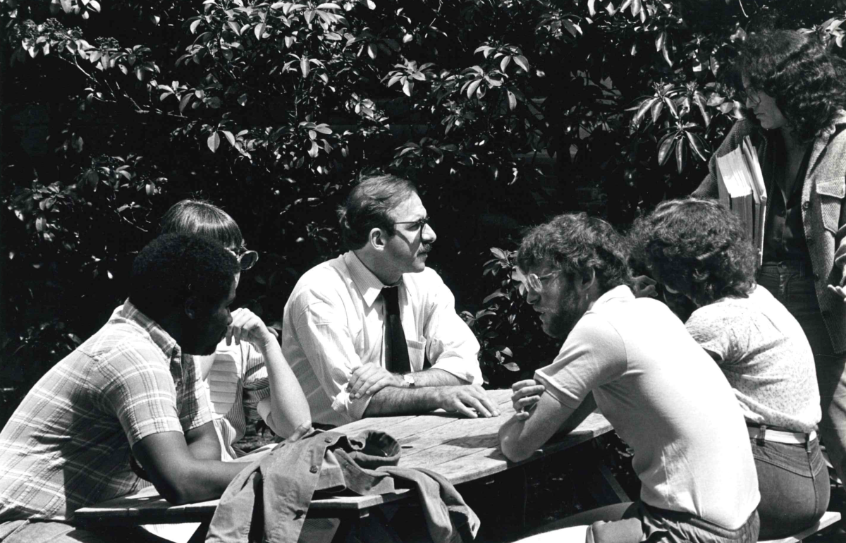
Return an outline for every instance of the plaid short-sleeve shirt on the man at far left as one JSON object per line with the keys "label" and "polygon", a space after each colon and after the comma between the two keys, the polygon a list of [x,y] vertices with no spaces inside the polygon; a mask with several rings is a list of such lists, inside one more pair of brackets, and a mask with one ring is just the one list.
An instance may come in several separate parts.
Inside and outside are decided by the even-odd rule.
{"label": "plaid short-sleeve shirt on the man at far left", "polygon": [[146,436],[211,420],[195,365],[129,300],[54,365],[0,432],[0,522],[73,520],[148,485],[129,468]]}

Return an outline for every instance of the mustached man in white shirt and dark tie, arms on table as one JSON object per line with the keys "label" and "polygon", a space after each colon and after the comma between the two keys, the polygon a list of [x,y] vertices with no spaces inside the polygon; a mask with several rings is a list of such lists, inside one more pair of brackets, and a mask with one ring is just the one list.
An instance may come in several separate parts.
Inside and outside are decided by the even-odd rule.
{"label": "mustached man in white shirt and dark tie, arms on table", "polygon": [[415,185],[365,178],[338,214],[349,251],[305,272],[285,305],[283,354],[312,420],[438,408],[497,416],[481,388],[479,343],[426,268],[436,235]]}

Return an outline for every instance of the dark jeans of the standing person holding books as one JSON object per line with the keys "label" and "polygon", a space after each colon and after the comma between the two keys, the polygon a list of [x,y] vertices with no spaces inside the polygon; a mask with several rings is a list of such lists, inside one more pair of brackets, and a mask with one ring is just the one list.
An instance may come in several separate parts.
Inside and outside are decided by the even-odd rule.
{"label": "dark jeans of the standing person holding books", "polygon": [[846,480],[846,354],[835,354],[816,299],[810,262],[765,262],[758,284],[766,288],[799,321],[816,362],[822,420],[820,436],[841,480]]}

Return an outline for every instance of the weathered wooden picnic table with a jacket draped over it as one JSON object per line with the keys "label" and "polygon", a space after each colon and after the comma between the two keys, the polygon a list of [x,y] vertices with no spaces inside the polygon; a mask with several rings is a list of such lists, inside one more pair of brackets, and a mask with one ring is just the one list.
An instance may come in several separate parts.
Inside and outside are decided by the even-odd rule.
{"label": "weathered wooden picnic table with a jacket draped over it", "polygon": [[[510,390],[488,391],[502,411],[499,417],[467,419],[457,414],[435,411],[431,414],[371,417],[358,420],[336,430],[353,433],[366,428],[386,431],[402,447],[399,465],[428,468],[444,475],[453,485],[479,480],[515,466],[546,457],[553,452],[590,441],[612,430],[599,413],[590,414],[574,431],[552,440],[524,462],[509,462],[499,450],[497,431],[514,414]],[[603,474],[607,483],[615,485],[610,473]],[[409,497],[409,490],[402,489],[378,496],[334,496],[311,502],[311,517],[365,517],[371,507]],[[171,505],[158,495],[153,487],[129,496],[123,496],[81,507],[74,518],[82,524],[169,524],[184,522],[209,522],[218,500],[209,502]]]}

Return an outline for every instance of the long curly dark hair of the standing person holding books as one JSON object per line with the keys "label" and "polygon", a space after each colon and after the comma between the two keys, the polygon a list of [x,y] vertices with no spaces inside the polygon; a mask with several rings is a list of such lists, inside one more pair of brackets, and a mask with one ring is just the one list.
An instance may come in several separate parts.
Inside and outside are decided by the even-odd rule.
{"label": "long curly dark hair of the standing person holding books", "polygon": [[[745,75],[750,83],[745,91],[775,98],[799,140],[810,141],[846,109],[844,65],[816,34],[765,30],[750,34],[740,46],[729,81],[742,89]],[[758,122],[754,115],[745,116]]]}

